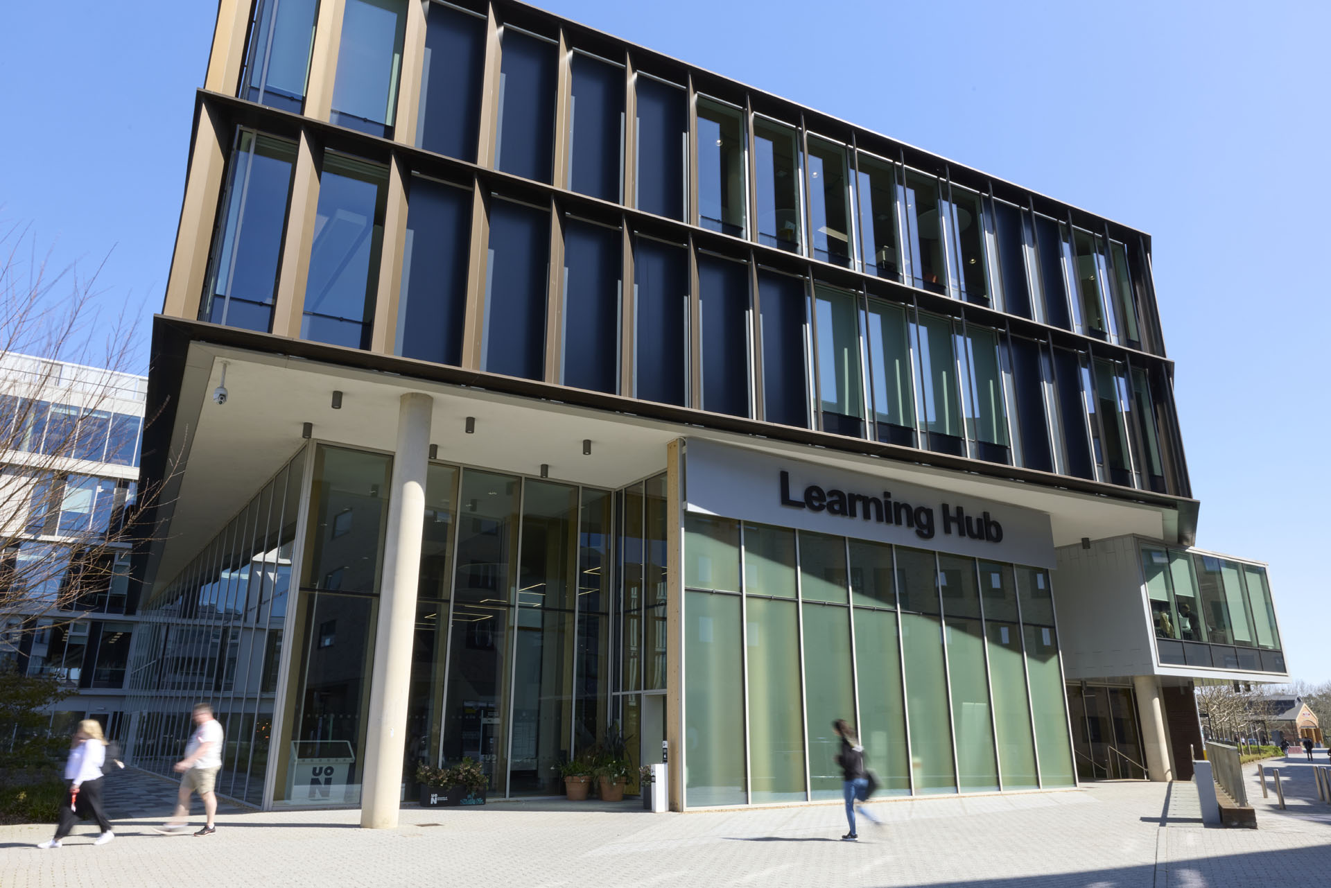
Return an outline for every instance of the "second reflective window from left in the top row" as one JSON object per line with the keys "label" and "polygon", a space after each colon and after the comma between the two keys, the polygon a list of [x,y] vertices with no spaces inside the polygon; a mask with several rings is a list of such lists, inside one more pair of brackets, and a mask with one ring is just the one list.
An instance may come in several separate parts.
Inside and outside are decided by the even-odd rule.
{"label": "second reflective window from left in the top row", "polygon": [[391,136],[402,76],[406,0],[345,0],[331,121]]}

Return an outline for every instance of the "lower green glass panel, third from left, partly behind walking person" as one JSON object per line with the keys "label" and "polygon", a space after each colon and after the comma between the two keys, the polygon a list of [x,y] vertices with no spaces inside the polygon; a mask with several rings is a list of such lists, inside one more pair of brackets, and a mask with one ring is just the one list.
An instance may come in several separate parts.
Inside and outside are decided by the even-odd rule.
{"label": "lower green glass panel, third from left, partly behind walking person", "polygon": [[845,607],[804,604],[804,687],[813,799],[841,797],[841,768],[836,763],[841,739],[832,723],[837,719],[856,723],[849,620]]}

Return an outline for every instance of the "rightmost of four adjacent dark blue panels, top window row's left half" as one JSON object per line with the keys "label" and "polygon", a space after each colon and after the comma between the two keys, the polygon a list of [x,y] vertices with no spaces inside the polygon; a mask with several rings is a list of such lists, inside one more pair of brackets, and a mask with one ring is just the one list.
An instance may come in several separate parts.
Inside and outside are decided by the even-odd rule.
{"label": "rightmost of four adjacent dark blue panels, top window row's left half", "polygon": [[638,208],[684,218],[684,140],[688,95],[638,77]]}

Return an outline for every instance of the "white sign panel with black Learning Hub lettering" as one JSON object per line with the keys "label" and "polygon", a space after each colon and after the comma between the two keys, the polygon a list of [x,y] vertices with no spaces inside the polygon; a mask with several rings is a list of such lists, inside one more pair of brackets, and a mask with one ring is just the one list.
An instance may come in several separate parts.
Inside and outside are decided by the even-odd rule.
{"label": "white sign panel with black Learning Hub lettering", "polygon": [[685,461],[692,513],[1054,567],[1042,511],[695,438]]}

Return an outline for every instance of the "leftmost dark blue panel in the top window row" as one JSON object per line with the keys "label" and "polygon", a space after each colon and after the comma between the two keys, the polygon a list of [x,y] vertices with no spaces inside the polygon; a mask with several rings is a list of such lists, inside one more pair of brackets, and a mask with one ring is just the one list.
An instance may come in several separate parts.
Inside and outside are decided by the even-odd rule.
{"label": "leftmost dark blue panel in the top window row", "polygon": [[486,20],[430,4],[417,144],[475,162],[486,67]]}

